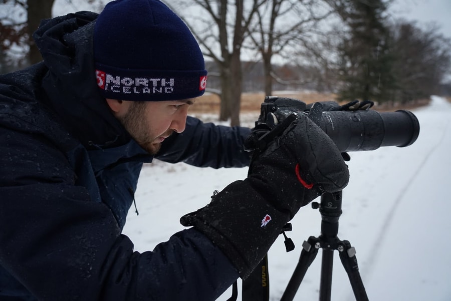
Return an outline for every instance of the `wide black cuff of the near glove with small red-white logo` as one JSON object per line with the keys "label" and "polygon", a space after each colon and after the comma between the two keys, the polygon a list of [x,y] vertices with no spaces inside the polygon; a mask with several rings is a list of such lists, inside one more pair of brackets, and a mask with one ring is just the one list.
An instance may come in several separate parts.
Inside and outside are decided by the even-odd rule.
{"label": "wide black cuff of the near glove with small red-white logo", "polygon": [[183,220],[184,225],[192,225],[211,239],[246,279],[290,220],[290,214],[277,210],[246,179],[225,187],[210,204]]}

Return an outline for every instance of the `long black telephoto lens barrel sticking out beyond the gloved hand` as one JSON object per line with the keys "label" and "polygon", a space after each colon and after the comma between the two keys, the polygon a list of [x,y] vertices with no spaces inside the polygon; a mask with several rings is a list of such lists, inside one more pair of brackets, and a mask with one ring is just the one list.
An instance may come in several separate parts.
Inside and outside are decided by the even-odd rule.
{"label": "long black telephoto lens barrel sticking out beyond the gloved hand", "polygon": [[418,119],[406,110],[328,111],[323,112],[320,127],[341,152],[405,147],[415,142],[419,134]]}

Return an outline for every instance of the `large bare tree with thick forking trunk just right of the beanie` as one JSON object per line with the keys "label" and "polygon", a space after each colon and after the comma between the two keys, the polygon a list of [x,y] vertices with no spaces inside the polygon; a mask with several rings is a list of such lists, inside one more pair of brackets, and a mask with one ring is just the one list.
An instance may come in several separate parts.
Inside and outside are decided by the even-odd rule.
{"label": "large bare tree with thick forking trunk just right of the beanie", "polygon": [[[218,66],[221,86],[219,120],[230,118],[232,126],[240,124],[243,89],[241,53],[245,33],[254,14],[265,2],[266,0],[192,0],[172,6],[190,27],[204,56],[212,59]],[[193,10],[196,12],[190,13]]]}

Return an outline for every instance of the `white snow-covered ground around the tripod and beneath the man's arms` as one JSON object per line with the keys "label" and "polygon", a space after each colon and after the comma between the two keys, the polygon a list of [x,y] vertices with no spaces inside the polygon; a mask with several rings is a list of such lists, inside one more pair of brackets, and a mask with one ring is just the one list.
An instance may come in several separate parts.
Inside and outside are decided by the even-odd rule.
{"label": "white snow-covered ground around the tripod and beneath the man's arms", "polygon": [[[343,190],[338,237],[356,248],[370,300],[451,300],[451,104],[432,97],[412,111],[420,123],[417,141],[405,148],[352,152],[351,179]],[[248,116],[255,120],[256,116]],[[252,126],[252,122],[249,123]],[[154,246],[183,229],[179,217],[209,202],[214,189],[246,177],[246,168],[195,168],[155,162],[143,168],[124,229],[136,250]],[[449,186],[448,186],[449,185]],[[271,300],[279,300],[294,271],[301,245],[320,234],[321,215],[306,206],[288,235],[296,244],[286,253],[281,236],[269,252]],[[317,300],[321,250],[307,270],[295,300]],[[241,285],[239,286],[241,291]],[[226,300],[231,289],[219,300]],[[241,296],[239,297],[241,299]],[[353,300],[337,251],[332,300]]]}

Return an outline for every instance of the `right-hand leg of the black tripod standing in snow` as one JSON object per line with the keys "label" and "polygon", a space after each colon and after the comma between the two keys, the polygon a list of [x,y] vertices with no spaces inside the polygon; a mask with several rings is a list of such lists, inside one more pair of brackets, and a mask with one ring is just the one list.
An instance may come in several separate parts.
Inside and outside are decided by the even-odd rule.
{"label": "right-hand leg of the black tripod standing in snow", "polygon": [[359,273],[357,258],[355,257],[355,249],[351,247],[351,243],[347,240],[342,241],[343,246],[338,247],[341,263],[348,274],[351,282],[352,290],[357,301],[368,301],[365,287]]}

